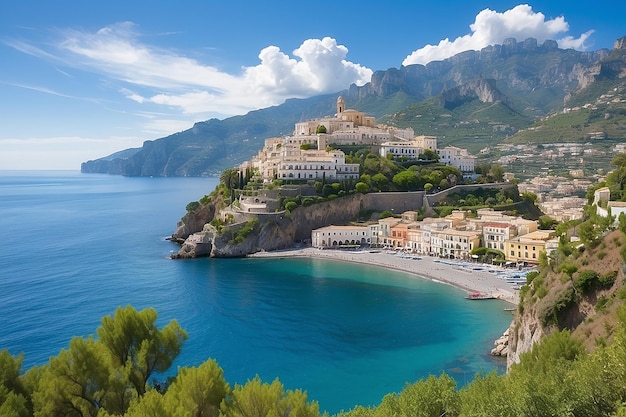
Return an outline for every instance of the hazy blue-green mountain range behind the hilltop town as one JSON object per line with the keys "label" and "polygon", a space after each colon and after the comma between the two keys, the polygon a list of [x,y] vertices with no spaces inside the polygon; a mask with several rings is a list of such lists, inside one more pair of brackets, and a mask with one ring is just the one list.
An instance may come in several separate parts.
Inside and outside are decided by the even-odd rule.
{"label": "hazy blue-green mountain range behind the hilltop town", "polygon": [[619,57],[602,67],[609,56],[606,49],[580,52],[559,49],[554,41],[538,45],[535,39],[507,39],[502,45],[427,65],[377,71],[361,87],[199,122],[146,141],[138,150],[84,162],[81,171],[127,176],[218,174],[252,157],[266,138],[292,133],[294,123],[334,114],[339,94],[349,107],[380,122],[413,127],[416,134],[436,135],[444,145],[474,151],[562,109],[578,90],[596,84],[597,74],[619,72]]}

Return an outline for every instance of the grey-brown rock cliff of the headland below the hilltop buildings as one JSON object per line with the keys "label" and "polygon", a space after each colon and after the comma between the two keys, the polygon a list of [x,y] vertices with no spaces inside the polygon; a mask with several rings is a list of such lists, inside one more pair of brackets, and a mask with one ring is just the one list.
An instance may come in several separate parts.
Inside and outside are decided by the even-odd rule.
{"label": "grey-brown rock cliff of the headland below the hilltop buildings", "polygon": [[[510,188],[512,184],[459,185],[437,194],[423,191],[352,194],[308,207],[300,206],[291,213],[252,214],[232,211],[216,206],[223,197],[210,204],[187,213],[177,225],[171,240],[182,245],[174,258],[211,256],[217,258],[246,256],[259,251],[271,251],[292,247],[294,243],[311,238],[311,231],[328,225],[348,224],[357,218],[360,211],[367,209],[382,212],[393,210],[403,213],[419,210],[424,204],[434,205],[458,190],[477,188]],[[232,225],[218,231],[210,223],[213,218],[231,217]],[[245,236],[239,230],[246,225],[253,229]]]}

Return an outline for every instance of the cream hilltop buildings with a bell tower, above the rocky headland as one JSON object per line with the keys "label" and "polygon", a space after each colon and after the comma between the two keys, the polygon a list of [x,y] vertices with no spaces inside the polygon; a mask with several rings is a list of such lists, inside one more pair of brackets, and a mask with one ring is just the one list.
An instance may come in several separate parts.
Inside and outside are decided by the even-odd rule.
{"label": "cream hilltop buildings with a bell tower, above the rocky headland", "polygon": [[239,166],[239,171],[258,173],[264,182],[288,180],[358,179],[359,164],[346,163],[344,152],[331,145],[367,145],[388,158],[419,159],[426,151],[439,155],[439,161],[474,172],[475,157],[466,149],[437,147],[434,136],[415,136],[413,129],[376,125],[364,112],[346,109],[342,96],[337,99],[334,117],[299,122],[293,135],[269,138],[259,153]]}

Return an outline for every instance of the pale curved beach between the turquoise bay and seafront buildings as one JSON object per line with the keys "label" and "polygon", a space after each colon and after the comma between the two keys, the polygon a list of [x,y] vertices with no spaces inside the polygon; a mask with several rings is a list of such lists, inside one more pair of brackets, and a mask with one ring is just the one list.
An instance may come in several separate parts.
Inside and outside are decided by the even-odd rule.
{"label": "pale curved beach between the turquoise bay and seafront buildings", "polygon": [[511,304],[518,303],[518,291],[514,285],[499,278],[494,268],[471,264],[458,260],[444,260],[429,256],[399,256],[394,253],[376,250],[339,250],[300,248],[272,252],[258,252],[249,257],[308,257],[333,259],[345,262],[358,262],[393,268],[414,274],[420,278],[430,279],[464,289],[468,292],[480,292],[493,295]]}

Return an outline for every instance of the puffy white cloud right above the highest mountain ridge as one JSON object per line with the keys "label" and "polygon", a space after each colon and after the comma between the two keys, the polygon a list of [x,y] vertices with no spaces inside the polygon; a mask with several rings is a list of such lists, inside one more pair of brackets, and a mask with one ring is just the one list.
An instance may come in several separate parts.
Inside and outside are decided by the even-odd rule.
{"label": "puffy white cloud right above the highest mountain ridge", "polygon": [[[503,13],[485,9],[476,15],[470,25],[471,33],[454,40],[441,40],[437,45],[426,45],[408,55],[402,65],[427,64],[449,58],[459,52],[480,50],[488,45],[501,44],[506,38],[522,41],[536,38],[539,43],[554,39],[561,48],[586,49],[585,42],[593,33],[585,32],[578,38],[567,35],[569,24],[563,16],[546,20],[541,12],[534,12],[527,4],[520,4]],[[564,36],[558,39],[559,36]]]}

